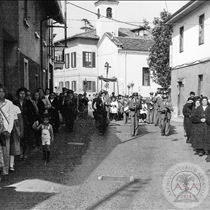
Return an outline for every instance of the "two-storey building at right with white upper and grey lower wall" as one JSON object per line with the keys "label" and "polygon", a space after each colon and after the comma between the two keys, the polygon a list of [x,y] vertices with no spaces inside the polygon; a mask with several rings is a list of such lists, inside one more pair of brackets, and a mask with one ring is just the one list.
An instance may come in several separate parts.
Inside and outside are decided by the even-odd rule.
{"label": "two-storey building at right with white upper and grey lower wall", "polygon": [[178,116],[190,91],[210,97],[210,2],[190,1],[166,23],[173,25],[171,94]]}

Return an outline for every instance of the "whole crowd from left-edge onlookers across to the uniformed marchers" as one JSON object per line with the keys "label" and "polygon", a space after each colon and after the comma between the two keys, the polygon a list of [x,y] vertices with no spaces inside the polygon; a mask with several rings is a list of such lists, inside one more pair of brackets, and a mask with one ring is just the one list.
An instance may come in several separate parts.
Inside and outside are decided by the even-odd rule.
{"label": "whole crowd from left-edge onlookers across to the uniformed marchers", "polygon": [[50,161],[50,145],[61,126],[73,132],[76,118],[87,119],[88,110],[93,110],[96,127],[104,134],[110,121],[131,122],[131,136],[138,135],[139,123],[159,126],[161,135],[168,135],[173,107],[168,92],[150,93],[143,98],[138,93],[132,96],[111,96],[101,91],[94,97],[76,94],[62,89],[59,95],[38,88],[35,93],[25,87],[16,95],[7,92],[0,84],[0,171],[2,179],[14,172],[15,160],[25,161],[35,147],[42,147],[42,159]]}

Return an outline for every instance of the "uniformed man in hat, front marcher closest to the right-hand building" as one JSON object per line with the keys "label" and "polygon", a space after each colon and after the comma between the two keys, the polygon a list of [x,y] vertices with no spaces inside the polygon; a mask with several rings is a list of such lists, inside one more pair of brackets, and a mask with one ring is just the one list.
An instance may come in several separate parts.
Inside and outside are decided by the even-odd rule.
{"label": "uniformed man in hat, front marcher closest to the right-hand building", "polygon": [[163,92],[163,100],[160,103],[161,136],[168,136],[170,132],[171,112],[174,110],[167,91]]}

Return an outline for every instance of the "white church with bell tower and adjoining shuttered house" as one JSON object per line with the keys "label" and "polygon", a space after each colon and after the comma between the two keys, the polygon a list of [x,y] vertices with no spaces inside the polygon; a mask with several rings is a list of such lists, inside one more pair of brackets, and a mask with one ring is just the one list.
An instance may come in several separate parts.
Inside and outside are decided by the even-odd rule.
{"label": "white church with bell tower and adjoining shuttered house", "polygon": [[[70,64],[68,69],[67,59],[66,68],[55,71],[55,82],[57,86],[60,84],[60,89],[63,84],[77,92],[87,90],[88,94],[107,89],[109,93],[115,91],[123,95],[140,92],[144,97],[149,96],[149,92],[157,91],[159,86],[150,78],[147,64],[149,48],[152,46],[151,36],[139,36],[130,29],[118,28],[118,22],[115,21],[118,19],[118,4],[117,0],[97,1],[96,30],[68,39],[65,57],[76,52],[77,66],[71,69]],[[83,52],[89,54],[84,57]],[[85,58],[87,62],[92,61],[92,52],[96,55],[95,65],[84,67]],[[107,64],[110,66],[108,71],[105,67]],[[107,77],[116,78],[116,82],[107,85],[101,80]],[[76,88],[73,81],[76,81]]]}

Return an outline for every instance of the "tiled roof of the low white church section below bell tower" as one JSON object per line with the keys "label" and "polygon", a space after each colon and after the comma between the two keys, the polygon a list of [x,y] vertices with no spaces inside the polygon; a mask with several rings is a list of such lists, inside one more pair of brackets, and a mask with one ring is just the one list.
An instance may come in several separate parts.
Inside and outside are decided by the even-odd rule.
{"label": "tiled roof of the low white church section below bell tower", "polygon": [[152,39],[133,38],[133,37],[114,37],[107,33],[109,39],[123,50],[148,51],[153,45]]}

